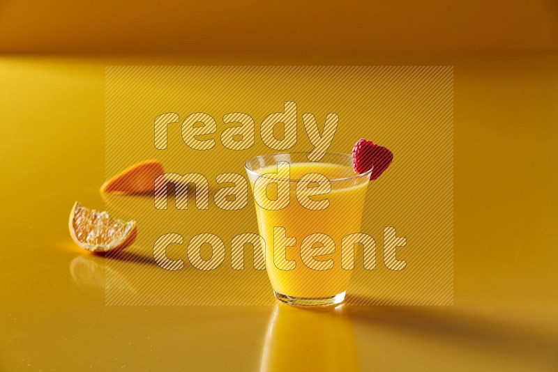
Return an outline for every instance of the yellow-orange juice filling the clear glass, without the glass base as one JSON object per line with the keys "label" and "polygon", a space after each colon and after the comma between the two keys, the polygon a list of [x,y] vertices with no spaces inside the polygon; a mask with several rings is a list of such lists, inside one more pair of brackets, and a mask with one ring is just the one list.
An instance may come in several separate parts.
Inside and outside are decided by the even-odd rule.
{"label": "yellow-orange juice filling the clear glass, without the glass base", "polygon": [[[272,173],[276,166],[260,169],[258,173]],[[296,180],[306,173],[320,173],[331,182],[328,194],[312,196],[313,200],[329,199],[329,206],[324,210],[310,210],[301,206],[296,199]],[[293,163],[290,164],[289,196],[287,208],[266,210],[256,204],[259,233],[266,241],[266,270],[273,290],[292,297],[329,297],[344,292],[352,271],[341,267],[341,240],[346,235],[359,233],[365,200],[367,179],[339,180],[356,176],[351,166],[328,163]],[[275,191],[276,194],[276,191]],[[271,199],[276,197],[273,190],[268,190]],[[293,246],[285,251],[273,248],[273,228],[285,228],[287,237],[296,238]],[[329,270],[312,270],[301,259],[301,242],[308,235],[323,233],[335,242],[333,254],[317,256],[317,261],[333,259],[333,268]],[[287,238],[288,239],[288,238]],[[312,247],[322,247],[316,242]],[[278,258],[283,255],[287,260],[294,260],[293,270],[281,270],[277,267]]]}

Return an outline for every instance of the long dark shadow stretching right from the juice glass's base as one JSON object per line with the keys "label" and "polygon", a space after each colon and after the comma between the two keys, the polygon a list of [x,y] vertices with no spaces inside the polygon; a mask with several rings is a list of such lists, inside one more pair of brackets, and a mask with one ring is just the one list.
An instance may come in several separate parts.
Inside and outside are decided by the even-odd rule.
{"label": "long dark shadow stretching right from the juice glass's base", "polygon": [[[348,300],[359,300],[350,298]],[[492,352],[497,356],[521,356],[536,364],[558,367],[558,335],[518,323],[460,313],[453,307],[349,307],[355,325],[389,327],[432,342]]]}

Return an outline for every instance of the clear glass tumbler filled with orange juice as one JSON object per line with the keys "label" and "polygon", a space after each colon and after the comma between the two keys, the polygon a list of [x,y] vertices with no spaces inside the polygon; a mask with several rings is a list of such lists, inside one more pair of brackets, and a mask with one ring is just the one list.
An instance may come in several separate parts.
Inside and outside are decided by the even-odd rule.
{"label": "clear glass tumbler filled with orange juice", "polygon": [[245,167],[276,297],[302,306],[345,300],[352,270],[342,268],[341,242],[361,230],[372,169],[356,173],[340,153],[316,162],[308,153],[262,155]]}

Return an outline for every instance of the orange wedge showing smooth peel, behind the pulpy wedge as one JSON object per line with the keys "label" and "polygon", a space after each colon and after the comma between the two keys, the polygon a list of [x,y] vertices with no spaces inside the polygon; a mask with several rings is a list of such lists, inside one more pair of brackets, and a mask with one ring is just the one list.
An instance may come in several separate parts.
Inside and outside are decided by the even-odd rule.
{"label": "orange wedge showing smooth peel, behind the pulpy wedge", "polygon": [[152,194],[155,179],[163,173],[165,173],[163,164],[158,160],[137,163],[107,180],[100,187],[100,192],[102,194],[114,192],[125,195]]}

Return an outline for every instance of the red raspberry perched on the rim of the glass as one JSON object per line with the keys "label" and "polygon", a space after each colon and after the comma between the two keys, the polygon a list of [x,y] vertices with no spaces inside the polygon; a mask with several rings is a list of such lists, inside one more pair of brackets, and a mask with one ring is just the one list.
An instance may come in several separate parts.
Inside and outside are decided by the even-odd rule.
{"label": "red raspberry perched on the rim of the glass", "polygon": [[370,170],[370,180],[378,178],[393,160],[393,153],[383,146],[378,146],[365,139],[359,139],[353,148],[353,168],[356,173],[364,173]]}

